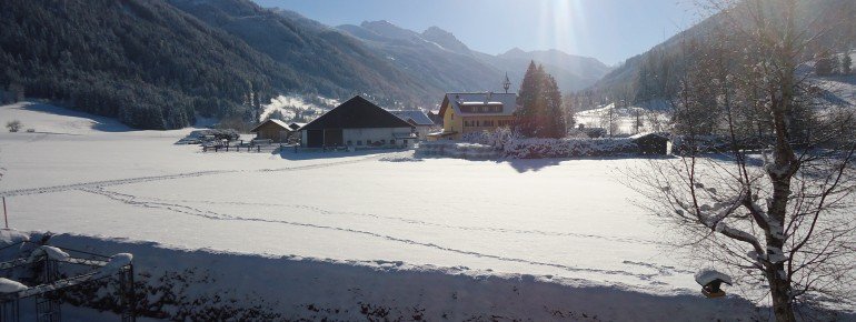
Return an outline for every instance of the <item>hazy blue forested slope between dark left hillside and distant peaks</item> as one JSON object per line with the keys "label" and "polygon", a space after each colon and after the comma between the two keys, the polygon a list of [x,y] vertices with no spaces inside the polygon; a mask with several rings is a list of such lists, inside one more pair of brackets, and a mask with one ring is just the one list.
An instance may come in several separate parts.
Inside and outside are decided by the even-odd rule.
{"label": "hazy blue forested slope between dark left hillside and distant peaks", "polygon": [[286,10],[250,0],[167,0],[176,8],[242,40],[298,74],[302,92],[347,99],[361,93],[385,104],[436,100],[426,85],[369,50],[358,39]]}

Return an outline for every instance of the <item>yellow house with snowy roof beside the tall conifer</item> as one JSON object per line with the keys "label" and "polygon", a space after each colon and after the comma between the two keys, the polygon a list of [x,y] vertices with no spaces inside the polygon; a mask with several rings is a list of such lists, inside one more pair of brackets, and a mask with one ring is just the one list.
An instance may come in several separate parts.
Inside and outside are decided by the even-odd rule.
{"label": "yellow house with snowy roof beside the tall conifer", "polygon": [[428,134],[428,140],[460,140],[467,133],[510,127],[515,110],[516,93],[446,93],[440,104],[442,132]]}

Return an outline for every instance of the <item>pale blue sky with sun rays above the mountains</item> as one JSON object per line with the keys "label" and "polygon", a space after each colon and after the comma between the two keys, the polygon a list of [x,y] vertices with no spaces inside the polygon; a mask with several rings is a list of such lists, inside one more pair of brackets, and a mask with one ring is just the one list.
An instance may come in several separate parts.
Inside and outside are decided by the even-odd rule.
{"label": "pale blue sky with sun rays above the mountains", "polygon": [[437,26],[470,49],[559,49],[607,64],[643,53],[701,19],[695,0],[253,0],[328,26],[387,20]]}

